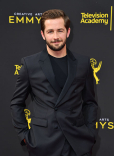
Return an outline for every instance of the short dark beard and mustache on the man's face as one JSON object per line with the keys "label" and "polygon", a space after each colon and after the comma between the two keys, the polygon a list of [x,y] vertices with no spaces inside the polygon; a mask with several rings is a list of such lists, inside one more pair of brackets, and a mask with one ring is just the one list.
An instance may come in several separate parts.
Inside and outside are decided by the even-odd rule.
{"label": "short dark beard and mustache on the man's face", "polygon": [[[45,39],[46,40],[46,39]],[[53,50],[53,51],[60,51],[61,49],[64,48],[65,44],[66,44],[66,40],[67,38],[65,39],[65,41],[60,45],[60,46],[53,46],[51,45],[50,43],[56,43],[56,42],[62,42],[63,40],[54,40],[54,41],[51,41],[50,43],[46,40],[46,44],[48,45],[48,47]]]}

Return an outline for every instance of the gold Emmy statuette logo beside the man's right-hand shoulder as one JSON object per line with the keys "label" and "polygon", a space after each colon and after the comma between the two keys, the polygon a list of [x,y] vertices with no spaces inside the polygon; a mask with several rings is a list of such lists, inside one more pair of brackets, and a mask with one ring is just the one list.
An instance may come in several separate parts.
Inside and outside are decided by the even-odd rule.
{"label": "gold Emmy statuette logo beside the man's right-hand shoulder", "polygon": [[97,61],[94,58],[90,59],[90,63],[91,63],[91,67],[93,69],[93,75],[96,80],[96,84],[99,84],[98,82],[100,79],[97,77],[96,73],[101,69],[102,61],[99,62],[98,67],[95,67],[95,65],[97,65]]}

